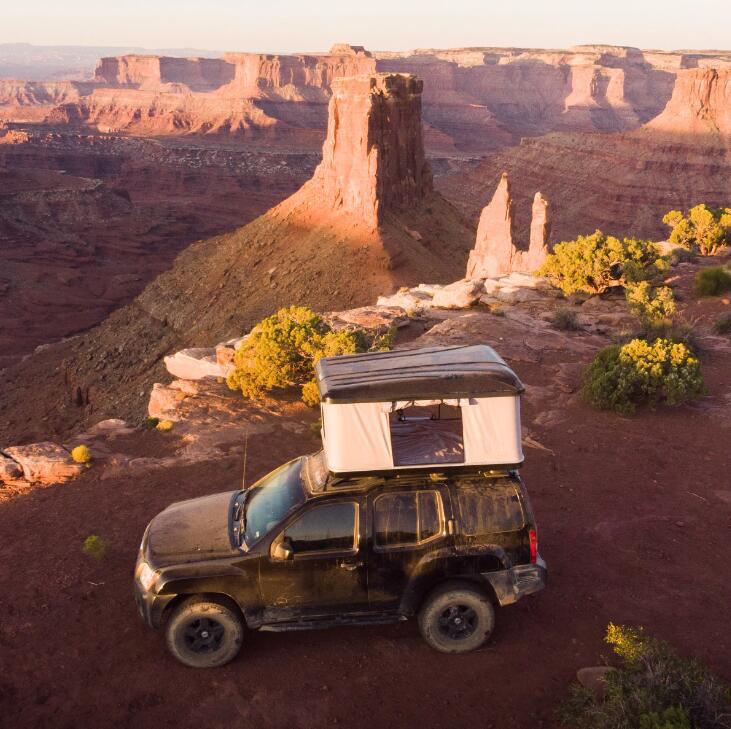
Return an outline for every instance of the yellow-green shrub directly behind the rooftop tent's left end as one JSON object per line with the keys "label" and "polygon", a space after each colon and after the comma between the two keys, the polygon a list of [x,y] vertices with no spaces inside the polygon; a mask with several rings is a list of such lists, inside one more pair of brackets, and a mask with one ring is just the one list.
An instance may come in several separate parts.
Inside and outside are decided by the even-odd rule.
{"label": "yellow-green shrub directly behind the rooftop tent's left end", "polygon": [[244,397],[260,397],[275,388],[299,386],[308,405],[320,401],[314,366],[323,357],[390,349],[394,332],[370,340],[361,331],[333,331],[314,311],[292,306],[259,322],[234,355],[234,371],[227,378]]}

